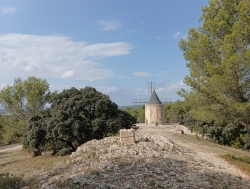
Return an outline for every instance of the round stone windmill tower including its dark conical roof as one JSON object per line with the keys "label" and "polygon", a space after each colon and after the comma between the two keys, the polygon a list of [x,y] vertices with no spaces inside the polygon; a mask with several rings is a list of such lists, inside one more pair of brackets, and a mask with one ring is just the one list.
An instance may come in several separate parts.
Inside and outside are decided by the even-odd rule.
{"label": "round stone windmill tower including its dark conical roof", "polygon": [[145,123],[146,125],[164,124],[164,105],[161,103],[155,90],[145,105]]}

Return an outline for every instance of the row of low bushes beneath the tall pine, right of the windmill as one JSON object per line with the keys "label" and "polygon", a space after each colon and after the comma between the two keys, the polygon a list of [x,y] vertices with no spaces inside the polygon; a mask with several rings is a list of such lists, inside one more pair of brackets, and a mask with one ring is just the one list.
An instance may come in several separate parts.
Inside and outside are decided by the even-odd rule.
{"label": "row of low bushes beneath the tall pine, right of the windmill", "polygon": [[210,138],[218,144],[249,150],[250,141],[248,130],[239,121],[228,119],[226,116],[202,111],[197,104],[188,98],[177,100],[165,106],[165,114],[170,122],[187,126],[191,132]]}

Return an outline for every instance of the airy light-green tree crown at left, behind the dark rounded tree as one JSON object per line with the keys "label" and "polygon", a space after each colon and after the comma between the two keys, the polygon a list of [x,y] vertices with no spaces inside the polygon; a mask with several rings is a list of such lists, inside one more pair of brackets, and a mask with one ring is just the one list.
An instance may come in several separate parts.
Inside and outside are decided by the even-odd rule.
{"label": "airy light-green tree crown at left, behind the dark rounded tree", "polygon": [[8,118],[15,118],[26,126],[30,117],[45,108],[50,97],[49,84],[45,79],[34,76],[27,80],[17,78],[13,85],[0,90],[0,105],[11,114]]}

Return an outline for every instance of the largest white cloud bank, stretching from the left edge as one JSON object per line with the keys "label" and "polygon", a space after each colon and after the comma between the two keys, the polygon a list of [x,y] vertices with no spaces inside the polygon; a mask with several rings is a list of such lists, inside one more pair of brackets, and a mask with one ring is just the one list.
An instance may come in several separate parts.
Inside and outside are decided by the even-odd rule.
{"label": "largest white cloud bank, stretching from the left edge", "polygon": [[65,36],[0,35],[0,76],[106,79],[114,75],[113,71],[98,68],[96,61],[129,54],[131,49],[125,42],[89,45]]}

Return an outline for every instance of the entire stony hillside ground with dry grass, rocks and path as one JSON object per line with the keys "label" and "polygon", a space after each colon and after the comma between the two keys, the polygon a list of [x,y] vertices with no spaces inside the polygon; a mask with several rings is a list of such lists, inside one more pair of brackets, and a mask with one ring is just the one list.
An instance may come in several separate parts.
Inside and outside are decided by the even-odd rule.
{"label": "entire stony hillside ground with dry grass, rocks and path", "polygon": [[[185,134],[176,134],[178,128]],[[24,173],[25,188],[250,188],[248,175],[219,157],[247,152],[198,139],[179,125],[139,124],[136,141],[93,140],[65,157],[31,158],[0,148],[0,172]]]}

